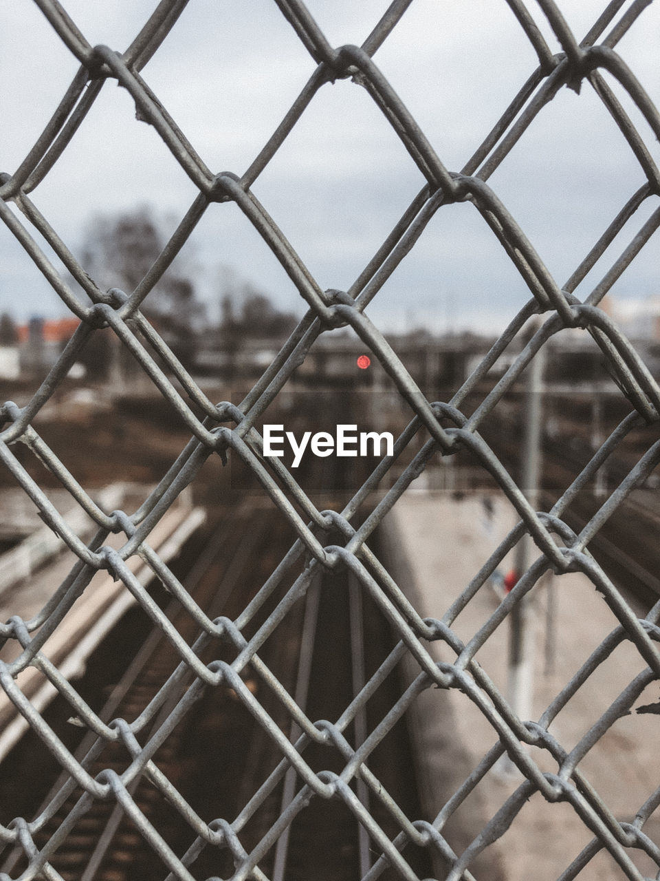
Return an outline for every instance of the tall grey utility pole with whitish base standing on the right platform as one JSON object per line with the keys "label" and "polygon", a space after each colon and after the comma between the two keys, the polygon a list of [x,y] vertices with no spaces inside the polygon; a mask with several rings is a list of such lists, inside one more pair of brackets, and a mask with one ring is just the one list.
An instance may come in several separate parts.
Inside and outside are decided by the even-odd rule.
{"label": "tall grey utility pole with whitish base standing on the right platform", "polygon": [[[541,396],[545,367],[545,348],[539,349],[528,367],[524,396],[524,440],[521,489],[533,509],[539,509],[539,473],[541,463]],[[532,537],[524,533],[516,548],[516,574],[527,571],[532,552]],[[508,697],[519,719],[532,716],[534,633],[531,597],[525,596],[509,615]]]}

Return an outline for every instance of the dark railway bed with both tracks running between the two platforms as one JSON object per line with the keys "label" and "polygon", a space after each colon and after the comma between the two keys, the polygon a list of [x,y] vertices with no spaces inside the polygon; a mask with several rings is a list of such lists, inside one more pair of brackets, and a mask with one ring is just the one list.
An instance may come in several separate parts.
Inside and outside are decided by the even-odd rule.
{"label": "dark railway bed with both tracks running between the two platforms", "polygon": [[[318,488],[324,498],[334,500],[337,507],[342,507],[348,500],[348,486],[357,485],[356,476],[332,467],[329,460],[322,462],[324,467],[315,478],[318,487],[314,488]],[[305,477],[302,469],[300,476]],[[209,523],[213,522],[214,518],[209,517]],[[334,540],[328,536],[329,543]],[[238,508],[217,512],[215,525],[203,543],[197,541],[191,549],[184,550],[186,559],[180,565],[189,571],[185,578],[180,577],[209,618],[222,615],[236,620],[292,543],[290,529],[269,503],[264,505],[260,500],[248,500]],[[374,549],[378,552],[377,548]],[[290,583],[291,576],[260,608],[244,631],[248,639],[275,608]],[[158,587],[155,593],[158,595]],[[168,602],[165,595],[162,604],[179,633],[189,644],[192,643],[197,635],[194,620],[181,610],[179,603]],[[140,612],[134,610],[132,614],[139,615]],[[90,662],[88,672],[93,679],[94,670],[98,672],[104,665],[116,665],[115,655],[119,647],[126,656],[116,685],[106,694],[105,706],[99,707],[99,714],[105,721],[125,719],[133,722],[155,699],[179,663],[175,649],[158,629],[137,633],[137,628],[137,635],[134,634],[132,640],[126,639],[127,630],[130,627],[122,623],[117,632],[109,634],[99,648],[98,656]],[[304,603],[297,603],[289,611],[260,648],[259,655],[286,691],[304,708],[308,718],[334,721],[364,682],[378,670],[392,648],[389,625],[370,598],[363,596],[348,574],[323,572],[307,592]],[[231,660],[231,653],[225,654],[226,657],[221,657]],[[201,658],[204,663],[209,663],[217,656],[217,646],[211,646]],[[242,676],[275,725],[292,742],[297,741],[300,732],[292,724],[282,701],[250,668]],[[85,685],[84,680],[78,685],[84,694],[91,694],[95,687],[94,683]],[[180,692],[186,685],[186,682],[181,684]],[[349,743],[355,747],[363,742],[367,732],[391,709],[400,690],[398,672],[394,671],[370,699],[366,709],[358,712],[348,724],[344,734]],[[158,713],[139,736],[141,743],[149,737],[150,730],[157,730],[172,711],[180,692],[170,695],[158,707]],[[59,714],[59,724],[66,728],[67,708],[57,707],[57,703],[56,700],[48,710],[48,722],[56,729]],[[30,737],[32,743],[20,744],[24,756],[40,749],[33,735],[26,740],[29,741]],[[76,754],[92,777],[106,768],[113,768],[121,774],[130,761],[123,745],[100,742],[93,733],[82,738]],[[222,686],[206,689],[202,699],[172,730],[153,758],[159,770],[205,822],[225,818],[237,824],[238,820],[239,839],[248,852],[259,845],[303,785],[294,771],[282,773],[272,791],[264,797],[258,796],[254,807],[246,812],[246,804],[251,803],[255,793],[264,786],[280,759],[281,755],[268,733],[253,720],[231,689]],[[304,759],[318,772],[338,773],[345,764],[339,751],[320,744],[310,744],[304,752]],[[16,759],[12,761],[10,755],[4,768],[5,779],[11,774],[12,766],[19,775],[20,780],[14,784],[10,781],[17,792],[21,788],[41,791],[40,802],[25,803],[21,809],[26,818],[40,817],[40,821],[34,824],[39,828],[33,834],[37,848],[43,848],[62,823],[66,823],[71,809],[83,794],[81,789],[74,787],[67,774],[58,779],[58,769],[52,764],[47,767],[42,763],[39,767],[41,787],[37,781],[30,780],[25,762],[21,766]],[[369,764],[372,773],[382,781],[401,810],[410,818],[421,817],[414,774],[411,774],[413,757],[405,722],[400,722],[379,744]],[[47,792],[43,780],[48,775],[50,786]],[[355,788],[360,801],[386,833],[393,838],[400,832],[385,806],[378,803],[378,798],[373,798],[362,781],[356,781]],[[229,849],[200,846],[201,842],[195,840],[190,827],[182,822],[177,811],[150,781],[140,778],[131,795],[143,816],[175,854],[184,855],[190,848],[195,851],[193,859],[190,850],[189,869],[194,877],[231,876],[234,865]],[[379,855],[378,848],[370,842],[341,800],[326,802],[314,797],[275,847],[268,849],[259,867],[274,881],[306,881],[310,877],[315,881],[352,881],[362,877]],[[427,855],[420,852],[409,858],[419,877],[429,876]],[[141,881],[162,881],[168,874],[165,863],[114,801],[93,802],[70,828],[49,864],[64,881],[135,881],[138,877]],[[18,853],[18,849],[0,855],[0,871],[11,873],[11,877],[18,877],[25,866],[26,858]],[[394,870],[385,870],[380,877],[394,881],[400,875]]]}

